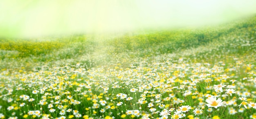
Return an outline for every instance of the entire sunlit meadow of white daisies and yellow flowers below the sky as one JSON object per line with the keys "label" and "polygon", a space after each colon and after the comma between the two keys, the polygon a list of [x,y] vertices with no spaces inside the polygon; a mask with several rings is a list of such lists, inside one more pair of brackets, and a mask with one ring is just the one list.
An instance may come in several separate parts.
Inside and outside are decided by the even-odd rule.
{"label": "entire sunlit meadow of white daisies and yellow flowers below the sky", "polygon": [[0,39],[1,119],[256,119],[256,17]]}

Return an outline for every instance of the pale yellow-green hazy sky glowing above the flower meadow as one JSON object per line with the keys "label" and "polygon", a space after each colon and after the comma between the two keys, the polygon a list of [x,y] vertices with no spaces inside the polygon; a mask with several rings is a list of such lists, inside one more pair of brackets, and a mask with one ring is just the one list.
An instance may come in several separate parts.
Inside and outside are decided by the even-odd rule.
{"label": "pale yellow-green hazy sky glowing above the flower meadow", "polygon": [[256,14],[256,0],[1,0],[0,37],[216,24]]}

